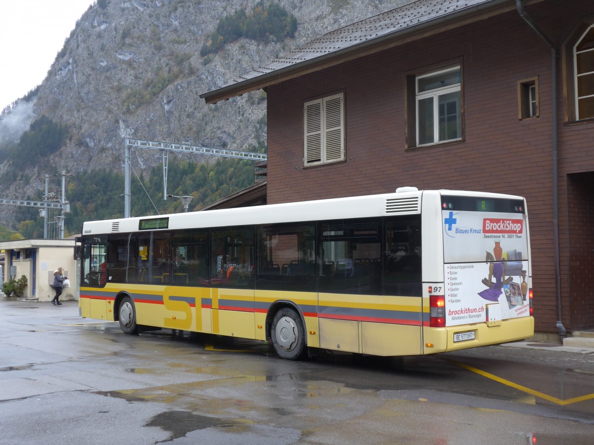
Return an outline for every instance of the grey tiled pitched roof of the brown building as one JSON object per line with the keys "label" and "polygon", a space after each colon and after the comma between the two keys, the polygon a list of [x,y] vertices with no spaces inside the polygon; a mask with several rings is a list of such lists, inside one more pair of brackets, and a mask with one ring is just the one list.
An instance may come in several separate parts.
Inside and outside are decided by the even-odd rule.
{"label": "grey tiled pitched roof of the brown building", "polygon": [[410,34],[459,26],[463,19],[478,20],[494,14],[495,9],[501,13],[502,6],[506,11],[516,8],[515,2],[511,0],[417,0],[330,31],[200,97],[207,103],[216,103],[335,65],[346,58],[354,58],[356,54],[374,51],[374,48],[381,50],[382,45],[388,42],[395,45],[394,41]]}

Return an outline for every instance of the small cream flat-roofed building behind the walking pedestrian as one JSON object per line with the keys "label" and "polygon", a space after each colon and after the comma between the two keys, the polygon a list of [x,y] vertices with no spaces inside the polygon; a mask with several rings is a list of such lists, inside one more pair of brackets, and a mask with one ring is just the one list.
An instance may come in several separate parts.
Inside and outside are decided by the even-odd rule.
{"label": "small cream flat-roofed building behind the walking pedestrian", "polygon": [[52,288],[53,272],[62,267],[70,279],[61,300],[78,300],[77,261],[74,259],[74,237],[65,240],[16,240],[0,243],[4,249],[4,281],[25,275],[27,287],[23,298],[50,301],[55,295]]}

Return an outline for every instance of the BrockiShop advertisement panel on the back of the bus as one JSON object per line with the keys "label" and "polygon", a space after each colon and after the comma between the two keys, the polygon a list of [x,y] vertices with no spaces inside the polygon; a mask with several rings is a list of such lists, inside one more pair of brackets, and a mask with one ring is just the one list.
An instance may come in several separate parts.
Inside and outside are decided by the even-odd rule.
{"label": "BrockiShop advertisement panel on the back of the bus", "polygon": [[529,316],[525,215],[446,209],[442,219],[445,325]]}

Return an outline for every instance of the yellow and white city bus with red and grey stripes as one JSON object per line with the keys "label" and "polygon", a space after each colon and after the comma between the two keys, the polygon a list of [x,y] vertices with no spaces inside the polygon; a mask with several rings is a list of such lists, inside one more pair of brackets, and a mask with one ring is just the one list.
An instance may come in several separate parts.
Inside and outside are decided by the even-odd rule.
{"label": "yellow and white city bus with red and grey stripes", "polygon": [[413,355],[533,335],[526,201],[395,193],[91,221],[80,314],[125,333],[179,329]]}

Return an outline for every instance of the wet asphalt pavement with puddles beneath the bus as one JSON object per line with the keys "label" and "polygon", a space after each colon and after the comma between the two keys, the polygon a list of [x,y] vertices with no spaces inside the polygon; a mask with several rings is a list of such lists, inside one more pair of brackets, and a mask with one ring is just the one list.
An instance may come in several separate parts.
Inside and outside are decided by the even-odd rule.
{"label": "wet asphalt pavement with puddles beneath the bus", "polygon": [[0,301],[0,444],[591,444],[594,350],[282,360]]}

